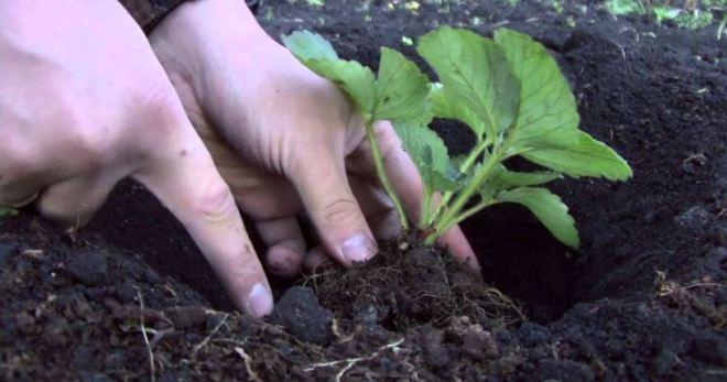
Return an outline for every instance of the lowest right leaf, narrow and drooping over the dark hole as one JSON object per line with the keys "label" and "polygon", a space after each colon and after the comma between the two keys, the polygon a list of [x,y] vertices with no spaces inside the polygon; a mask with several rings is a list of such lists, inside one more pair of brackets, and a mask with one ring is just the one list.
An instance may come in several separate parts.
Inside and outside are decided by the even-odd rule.
{"label": "lowest right leaf, narrow and drooping over the dark hole", "polygon": [[561,198],[546,188],[521,187],[498,195],[498,200],[525,206],[562,243],[578,248],[580,240],[575,220]]}

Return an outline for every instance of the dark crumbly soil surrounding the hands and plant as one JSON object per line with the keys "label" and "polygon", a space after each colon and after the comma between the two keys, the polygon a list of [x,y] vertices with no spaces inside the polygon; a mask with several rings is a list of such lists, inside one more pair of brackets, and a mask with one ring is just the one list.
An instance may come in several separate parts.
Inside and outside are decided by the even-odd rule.
{"label": "dark crumbly soil surrounding the hands and plant", "polygon": [[[231,310],[169,212],[126,183],[80,232],[32,210],[0,221],[0,380],[724,381],[727,42],[716,24],[616,19],[595,1],[561,13],[534,0],[408,3],[269,0],[259,19],[273,35],[315,30],[372,66],[380,45],[415,57],[402,36],[437,24],[504,25],[544,43],[582,128],[634,170],[628,183],[553,187],[578,252],[521,208],[497,207],[464,223],[481,275],[440,250],[382,243],[361,269],[279,285],[275,313],[253,320]],[[470,142],[456,124],[436,128],[454,151]]]}

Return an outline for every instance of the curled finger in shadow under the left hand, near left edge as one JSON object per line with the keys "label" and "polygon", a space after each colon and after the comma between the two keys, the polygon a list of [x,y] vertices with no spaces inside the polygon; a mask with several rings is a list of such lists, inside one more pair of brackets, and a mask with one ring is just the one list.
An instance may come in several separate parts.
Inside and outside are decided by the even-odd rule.
{"label": "curled finger in shadow under the left hand, near left edge", "polygon": [[82,227],[106,201],[122,176],[79,176],[47,187],[36,205],[40,212],[68,227]]}

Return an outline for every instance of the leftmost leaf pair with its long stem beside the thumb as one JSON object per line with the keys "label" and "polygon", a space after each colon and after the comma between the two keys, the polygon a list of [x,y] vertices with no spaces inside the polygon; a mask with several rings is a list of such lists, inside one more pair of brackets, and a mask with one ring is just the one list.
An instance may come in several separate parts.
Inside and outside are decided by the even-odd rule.
{"label": "leftmost leaf pair with its long stem beside the thumb", "polygon": [[401,200],[387,176],[373,123],[389,120],[427,124],[432,120],[427,77],[401,53],[387,47],[381,48],[379,72],[375,75],[355,61],[338,58],[330,43],[315,33],[300,31],[282,40],[299,61],[338,85],[354,102],[364,119],[379,181],[399,214],[401,226],[409,229]]}

